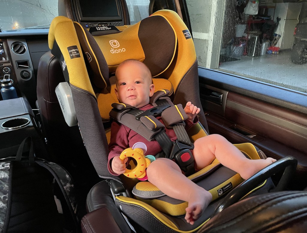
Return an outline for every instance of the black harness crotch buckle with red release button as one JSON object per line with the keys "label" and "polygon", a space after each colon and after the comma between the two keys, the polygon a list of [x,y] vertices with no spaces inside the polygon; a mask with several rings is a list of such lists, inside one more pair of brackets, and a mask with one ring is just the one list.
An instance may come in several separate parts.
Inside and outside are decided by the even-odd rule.
{"label": "black harness crotch buckle with red release button", "polygon": [[189,176],[195,172],[194,168],[194,157],[192,151],[194,149],[194,144],[192,146],[180,143],[178,139],[173,142],[173,148],[171,151],[170,159],[175,159],[178,166],[185,172],[186,176]]}

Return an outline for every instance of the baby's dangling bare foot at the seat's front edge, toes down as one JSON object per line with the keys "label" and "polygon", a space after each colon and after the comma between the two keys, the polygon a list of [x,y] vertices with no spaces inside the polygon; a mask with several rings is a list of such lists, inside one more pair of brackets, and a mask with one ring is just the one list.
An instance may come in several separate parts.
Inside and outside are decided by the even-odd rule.
{"label": "baby's dangling bare foot at the seat's front edge, toes down", "polygon": [[188,207],[185,208],[185,220],[191,225],[201,216],[204,209],[210,204],[212,195],[207,190],[202,189],[197,193],[193,193],[188,201]]}

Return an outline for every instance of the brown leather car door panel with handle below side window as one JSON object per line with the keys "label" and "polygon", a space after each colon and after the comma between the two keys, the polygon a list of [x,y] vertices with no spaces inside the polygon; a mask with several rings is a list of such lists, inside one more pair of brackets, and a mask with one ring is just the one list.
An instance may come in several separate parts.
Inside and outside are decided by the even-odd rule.
{"label": "brown leather car door panel with handle below side window", "polygon": [[[267,156],[275,159],[289,155],[295,157],[298,160],[297,182],[293,184],[295,187],[291,188],[306,187],[307,116],[293,110],[298,109],[297,102],[303,99],[295,99],[294,103],[287,101],[283,98],[284,95],[295,95],[287,91],[284,91],[280,99],[276,99],[273,86],[262,84],[263,88],[258,89],[257,85],[252,87],[252,83],[244,84],[249,80],[237,78],[236,81],[243,80],[240,85],[235,81],[231,82],[235,80],[234,76],[221,74],[223,78],[220,76],[215,78],[217,77],[216,71],[205,70],[203,72],[204,70],[199,69],[200,97],[209,133],[221,134],[231,143],[250,142],[259,147]],[[272,95],[270,96],[270,92],[266,96],[260,95],[264,89],[271,90]],[[221,104],[213,102],[208,98],[208,94],[204,94],[213,91],[223,94]],[[259,96],[262,99],[258,98]],[[305,98],[304,95],[301,96]],[[305,106],[300,106],[303,111],[305,108]]]}

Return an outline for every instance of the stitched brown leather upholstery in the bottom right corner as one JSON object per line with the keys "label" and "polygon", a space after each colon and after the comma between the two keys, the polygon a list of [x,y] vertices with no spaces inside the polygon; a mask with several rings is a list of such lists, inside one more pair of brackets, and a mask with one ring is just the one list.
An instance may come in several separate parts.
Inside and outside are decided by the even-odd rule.
{"label": "stitched brown leather upholstery in the bottom right corner", "polygon": [[307,192],[266,193],[231,205],[198,232],[305,232]]}

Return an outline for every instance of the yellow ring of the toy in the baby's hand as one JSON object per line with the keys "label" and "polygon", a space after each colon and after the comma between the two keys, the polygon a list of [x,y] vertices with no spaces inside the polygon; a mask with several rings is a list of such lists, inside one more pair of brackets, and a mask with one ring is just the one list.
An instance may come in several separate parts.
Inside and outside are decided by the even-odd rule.
{"label": "yellow ring of the toy in the baby's hand", "polygon": [[126,169],[124,175],[129,178],[144,178],[146,176],[146,168],[150,164],[150,159],[145,158],[144,151],[141,148],[127,148],[120,154],[119,158],[124,160],[126,157],[132,157],[137,162],[137,166],[130,170]]}

